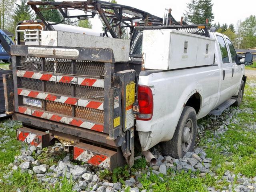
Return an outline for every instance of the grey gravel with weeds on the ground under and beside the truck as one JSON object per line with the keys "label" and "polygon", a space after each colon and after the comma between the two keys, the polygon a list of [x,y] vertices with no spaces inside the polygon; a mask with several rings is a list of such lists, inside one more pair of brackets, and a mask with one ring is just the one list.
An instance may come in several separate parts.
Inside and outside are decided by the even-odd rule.
{"label": "grey gravel with weeds on the ground under and beside the truck", "polygon": [[[256,71],[246,70],[246,74],[250,77],[253,77],[255,73]],[[256,80],[250,80],[248,85],[255,88]],[[198,122],[198,138],[204,138],[207,146],[200,146],[200,140],[198,139],[197,144],[200,147],[196,147],[193,152],[188,152],[182,159],[162,156],[160,146],[156,146],[152,148],[152,153],[157,158],[156,165],[144,162],[144,157],[138,155],[135,158],[135,168],[119,168],[116,172],[113,172],[112,177],[111,173],[106,170],[100,170],[100,168],[73,161],[71,154],[64,152],[64,147],[60,143],[45,149],[23,144],[20,154],[15,156],[14,162],[6,167],[8,171],[3,174],[0,184],[7,183],[12,185],[12,177],[18,171],[32,175],[42,188],[49,191],[52,191],[57,185],[58,188],[62,188],[64,180],[68,179],[72,181],[72,190],[76,192],[153,192],[167,191],[167,189],[156,190],[154,185],[160,185],[159,183],[165,183],[168,180],[177,180],[180,174],[188,174],[189,180],[207,180],[210,178],[215,181],[214,186],[204,186],[202,191],[256,192],[256,175],[245,176],[240,172],[234,172],[234,168],[237,165],[235,162],[230,161],[230,158],[236,154],[230,150],[230,146],[222,146],[220,144],[220,140],[227,137],[226,133],[234,125],[243,126],[244,132],[256,132],[256,122],[248,121],[244,124],[238,118],[239,114],[254,115],[255,111],[250,107],[228,108],[221,116],[208,116],[208,118]],[[4,128],[0,128],[0,131],[9,129],[9,131],[15,132],[12,128],[15,123],[17,122],[5,122]],[[207,138],[207,132],[210,132],[212,136]],[[1,144],[10,142],[11,139],[7,134],[0,138],[0,150],[4,151],[5,149],[1,148]],[[239,140],[232,148],[238,149],[243,145],[244,141]],[[210,152],[211,149],[214,150],[215,148],[221,148],[219,155],[227,157],[224,160],[226,167],[222,170],[223,174],[220,174],[220,169],[222,169],[223,165],[216,164],[216,160],[210,158],[206,152],[206,150]],[[242,159],[240,154],[238,158]],[[122,179],[120,177],[114,179],[114,174],[117,175],[117,178],[118,174],[125,176],[122,176]],[[149,186],[146,186],[145,180],[152,180],[152,178],[154,178],[153,182],[151,181]],[[216,184],[222,185],[217,189]],[[18,188],[16,191],[27,190]]]}

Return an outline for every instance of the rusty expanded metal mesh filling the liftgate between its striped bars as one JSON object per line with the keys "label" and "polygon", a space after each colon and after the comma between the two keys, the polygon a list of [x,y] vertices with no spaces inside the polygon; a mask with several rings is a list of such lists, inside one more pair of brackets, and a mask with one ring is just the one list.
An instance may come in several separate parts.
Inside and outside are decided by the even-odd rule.
{"label": "rusty expanded metal mesh filling the liftgate between its striped bars", "polygon": [[[21,60],[20,66],[21,69],[24,70],[43,71],[54,74],[75,74],[98,79],[102,78],[105,73],[105,66],[103,62],[29,56],[22,56]],[[18,88],[26,88],[29,90],[42,91],[51,94],[104,101],[104,88],[22,77],[18,77],[18,82]],[[20,104],[26,107],[44,110],[46,112],[52,112],[63,116],[81,118],[96,123],[104,123],[104,110],[86,108],[49,100],[43,101],[44,106],[42,108],[23,104],[22,100],[20,100]]]}

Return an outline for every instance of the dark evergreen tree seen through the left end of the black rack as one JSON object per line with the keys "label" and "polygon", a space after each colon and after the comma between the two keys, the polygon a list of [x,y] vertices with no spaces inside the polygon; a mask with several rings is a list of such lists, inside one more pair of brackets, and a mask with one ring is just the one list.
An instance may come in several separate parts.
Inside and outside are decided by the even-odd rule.
{"label": "dark evergreen tree seen through the left end of the black rack", "polygon": [[[41,1],[50,1],[50,2],[54,2],[54,0],[41,0]],[[39,6],[39,8],[52,8],[52,6],[47,5],[47,6]],[[43,9],[40,11],[42,13],[42,15],[44,16],[44,18],[47,21],[50,22],[54,22],[54,23],[58,23],[60,21],[62,21],[62,15],[60,14],[59,10],[56,9]],[[38,16],[36,17],[37,19]]]}

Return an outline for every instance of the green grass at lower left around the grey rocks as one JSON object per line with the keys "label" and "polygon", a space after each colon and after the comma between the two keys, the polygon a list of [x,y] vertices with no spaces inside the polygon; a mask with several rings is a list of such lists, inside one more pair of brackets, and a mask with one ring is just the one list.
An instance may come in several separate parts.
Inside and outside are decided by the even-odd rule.
{"label": "green grass at lower left around the grey rocks", "polygon": [[[3,121],[0,123],[0,127],[5,127]],[[2,136],[10,136],[10,139],[7,143],[1,144],[0,146],[0,180],[3,181],[3,183],[0,182],[0,192],[16,192],[17,188],[20,188],[22,192],[73,192],[72,187],[74,185],[74,182],[72,182],[72,178],[67,179],[64,178],[60,183],[56,183],[55,186],[48,186],[48,189],[45,189],[44,186],[42,186],[40,183],[38,183],[38,180],[35,176],[28,174],[28,172],[21,173],[20,169],[18,171],[13,171],[12,178],[4,179],[4,174],[8,174],[12,170],[12,167],[9,167],[8,165],[12,162],[14,162],[14,156],[20,155],[20,149],[22,148],[22,142],[18,142],[16,140],[16,129],[20,128],[21,124],[16,122],[14,127],[6,128],[6,130],[0,130],[0,138]],[[13,129],[11,131],[10,129]],[[25,146],[27,146],[25,144]],[[5,149],[6,151],[2,151]],[[52,161],[48,160],[48,148],[44,148],[42,150],[42,154],[38,156],[37,158],[42,161],[42,163],[46,164],[56,164],[58,160],[64,158],[66,156],[65,152],[55,154],[54,159]],[[35,153],[33,153],[33,156],[35,157]]]}

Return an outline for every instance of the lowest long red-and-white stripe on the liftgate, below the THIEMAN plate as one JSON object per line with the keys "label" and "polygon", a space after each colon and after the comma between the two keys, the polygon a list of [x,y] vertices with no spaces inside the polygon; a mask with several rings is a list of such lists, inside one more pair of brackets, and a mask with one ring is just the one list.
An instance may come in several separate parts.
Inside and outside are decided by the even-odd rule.
{"label": "lowest long red-and-white stripe on the liftgate, below the THIEMAN plate", "polygon": [[76,118],[70,118],[62,115],[51,114],[51,113],[44,112],[42,110],[33,110],[23,106],[19,106],[18,110],[20,113],[23,113],[23,114],[32,115],[32,116],[36,116],[36,117],[40,117],[40,118],[44,118],[44,119],[48,119],[56,122],[73,125],[73,126],[78,126],[78,127],[98,131],[98,132],[103,132],[104,130],[102,124],[95,124],[92,122],[88,122],[88,121],[84,121]]}

